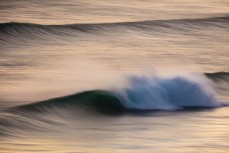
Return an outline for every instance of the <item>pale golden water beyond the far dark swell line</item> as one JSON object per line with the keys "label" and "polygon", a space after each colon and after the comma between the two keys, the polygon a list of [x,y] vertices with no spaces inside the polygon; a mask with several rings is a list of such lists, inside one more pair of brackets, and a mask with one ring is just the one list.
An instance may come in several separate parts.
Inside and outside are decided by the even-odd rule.
{"label": "pale golden water beyond the far dark swell line", "polygon": [[[0,22],[102,23],[198,18],[228,14],[228,0],[1,1]],[[16,12],[16,13],[15,13]],[[23,15],[21,15],[23,14]]]}

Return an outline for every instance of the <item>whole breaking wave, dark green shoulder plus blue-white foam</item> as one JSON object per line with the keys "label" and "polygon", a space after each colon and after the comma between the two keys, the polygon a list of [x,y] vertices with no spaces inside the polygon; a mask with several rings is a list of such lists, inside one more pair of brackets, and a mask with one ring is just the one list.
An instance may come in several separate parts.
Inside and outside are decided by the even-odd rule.
{"label": "whole breaking wave, dark green shoulder plus blue-white foam", "polygon": [[[193,79],[195,78],[195,79]],[[198,78],[198,79],[197,79]],[[52,108],[83,108],[103,114],[149,110],[185,110],[224,106],[204,76],[131,76],[129,85],[118,90],[91,90],[38,103],[17,106],[11,111],[43,112]]]}

